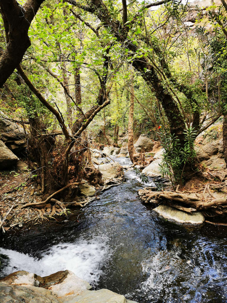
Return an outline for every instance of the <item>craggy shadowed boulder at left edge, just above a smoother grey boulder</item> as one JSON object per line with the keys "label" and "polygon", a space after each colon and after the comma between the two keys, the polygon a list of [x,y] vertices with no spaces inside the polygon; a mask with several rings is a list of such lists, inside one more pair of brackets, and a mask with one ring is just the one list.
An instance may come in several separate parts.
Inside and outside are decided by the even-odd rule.
{"label": "craggy shadowed boulder at left edge, just above a smoother grey boulder", "polygon": [[5,145],[16,155],[21,155],[26,151],[26,140],[23,128],[15,122],[5,118],[0,118],[0,138]]}

